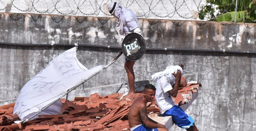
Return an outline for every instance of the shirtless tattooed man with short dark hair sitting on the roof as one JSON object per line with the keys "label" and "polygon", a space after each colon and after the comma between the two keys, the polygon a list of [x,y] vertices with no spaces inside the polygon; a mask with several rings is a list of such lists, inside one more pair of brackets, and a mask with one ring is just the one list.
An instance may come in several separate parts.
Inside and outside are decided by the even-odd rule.
{"label": "shirtless tattooed man with short dark hair sitting on the roof", "polygon": [[147,102],[152,102],[156,94],[156,88],[152,84],[144,87],[142,97],[138,97],[130,107],[128,121],[131,131],[168,131],[160,123],[147,116]]}

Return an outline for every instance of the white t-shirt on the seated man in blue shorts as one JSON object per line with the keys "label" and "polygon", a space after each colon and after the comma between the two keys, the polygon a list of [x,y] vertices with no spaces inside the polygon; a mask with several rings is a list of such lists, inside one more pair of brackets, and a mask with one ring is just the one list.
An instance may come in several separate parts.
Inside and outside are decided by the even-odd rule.
{"label": "white t-shirt on the seated man in blue shorts", "polygon": [[167,92],[173,89],[172,85],[174,85],[174,81],[170,81],[166,76],[163,76],[156,81],[155,98],[161,114],[175,106],[173,99],[171,99],[171,95]]}

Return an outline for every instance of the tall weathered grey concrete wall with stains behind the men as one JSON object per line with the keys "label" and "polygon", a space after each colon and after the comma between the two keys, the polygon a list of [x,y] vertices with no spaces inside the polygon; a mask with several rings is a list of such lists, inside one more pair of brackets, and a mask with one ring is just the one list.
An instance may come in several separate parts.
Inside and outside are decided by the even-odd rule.
{"label": "tall weathered grey concrete wall with stains behind the men", "polygon": [[[115,18],[7,13],[0,16],[1,100],[17,97],[29,79],[54,57],[73,47],[74,42],[119,47],[123,39],[115,28]],[[183,63],[185,70],[199,72],[198,81],[203,85],[186,111],[199,130],[256,129],[255,24],[150,19],[139,22],[149,50],[135,63],[135,81],[148,80],[166,66]],[[52,43],[54,46],[50,46]],[[78,59],[91,68],[108,64],[120,51],[81,46]],[[127,81],[123,65],[122,55],[116,64],[86,82],[86,87]]]}

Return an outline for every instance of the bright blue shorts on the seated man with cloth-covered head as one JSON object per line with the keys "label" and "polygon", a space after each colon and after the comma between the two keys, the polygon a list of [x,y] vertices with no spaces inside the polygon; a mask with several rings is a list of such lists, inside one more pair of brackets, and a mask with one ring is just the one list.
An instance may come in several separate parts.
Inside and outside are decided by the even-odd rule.
{"label": "bright blue shorts on the seated man with cloth-covered head", "polygon": [[173,106],[162,114],[162,116],[171,116],[173,122],[180,128],[188,129],[190,126],[194,126],[194,120],[188,116],[180,106]]}

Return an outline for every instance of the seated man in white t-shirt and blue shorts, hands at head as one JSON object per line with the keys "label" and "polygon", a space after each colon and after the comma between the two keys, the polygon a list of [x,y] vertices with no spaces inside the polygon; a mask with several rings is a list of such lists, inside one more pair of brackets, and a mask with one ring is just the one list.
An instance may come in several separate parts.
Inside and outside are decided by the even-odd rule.
{"label": "seated man in white t-shirt and blue shorts, hands at head", "polygon": [[171,96],[176,97],[178,94],[183,67],[182,64],[169,66],[166,70],[152,75],[152,79],[157,79],[155,98],[162,116],[172,116],[173,122],[187,131],[198,131],[194,120],[171,99]]}

